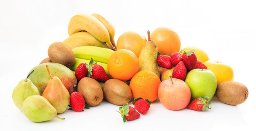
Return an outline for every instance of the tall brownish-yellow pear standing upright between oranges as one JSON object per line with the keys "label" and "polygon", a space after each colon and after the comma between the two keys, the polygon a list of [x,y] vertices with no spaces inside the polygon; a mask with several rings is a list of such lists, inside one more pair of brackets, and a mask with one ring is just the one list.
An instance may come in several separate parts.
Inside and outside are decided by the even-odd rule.
{"label": "tall brownish-yellow pear standing upright between oranges", "polygon": [[148,41],[145,43],[139,54],[139,71],[152,71],[160,78],[160,72],[157,68],[157,44],[150,39],[150,32],[148,31]]}

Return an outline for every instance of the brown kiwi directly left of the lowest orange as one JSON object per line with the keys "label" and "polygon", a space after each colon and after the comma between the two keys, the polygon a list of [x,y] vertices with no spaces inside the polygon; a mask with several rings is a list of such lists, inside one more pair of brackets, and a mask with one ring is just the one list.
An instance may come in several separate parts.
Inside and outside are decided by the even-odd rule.
{"label": "brown kiwi directly left of the lowest orange", "polygon": [[131,100],[130,87],[118,79],[109,79],[103,86],[104,98],[114,105],[124,105]]}

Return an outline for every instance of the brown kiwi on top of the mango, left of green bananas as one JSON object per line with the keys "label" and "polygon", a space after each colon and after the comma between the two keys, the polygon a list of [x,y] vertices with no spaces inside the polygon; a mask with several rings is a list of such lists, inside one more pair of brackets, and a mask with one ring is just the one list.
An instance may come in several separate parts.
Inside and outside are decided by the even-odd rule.
{"label": "brown kiwi on top of the mango, left of green bananas", "polygon": [[67,68],[73,66],[76,60],[72,50],[61,42],[54,42],[49,46],[48,56],[52,62],[60,63]]}

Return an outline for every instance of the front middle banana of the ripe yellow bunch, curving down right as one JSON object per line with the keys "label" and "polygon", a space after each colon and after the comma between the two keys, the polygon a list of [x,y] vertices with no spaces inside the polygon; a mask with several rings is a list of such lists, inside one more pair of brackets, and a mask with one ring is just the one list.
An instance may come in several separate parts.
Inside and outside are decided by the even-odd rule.
{"label": "front middle banana of the ripe yellow bunch, curving down right", "polygon": [[68,25],[68,34],[72,35],[80,31],[87,31],[99,41],[104,42],[112,50],[116,50],[110,42],[108,29],[92,15],[81,14],[71,18]]}

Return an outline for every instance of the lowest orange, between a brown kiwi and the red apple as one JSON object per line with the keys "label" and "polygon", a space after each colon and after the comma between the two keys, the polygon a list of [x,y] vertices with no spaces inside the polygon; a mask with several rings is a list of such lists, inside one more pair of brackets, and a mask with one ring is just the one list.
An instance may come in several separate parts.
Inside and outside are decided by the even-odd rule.
{"label": "lowest orange, between a brown kiwi and the red apple", "polygon": [[141,97],[150,101],[158,98],[157,89],[161,83],[159,77],[154,72],[142,70],[135,74],[130,81],[132,97]]}

